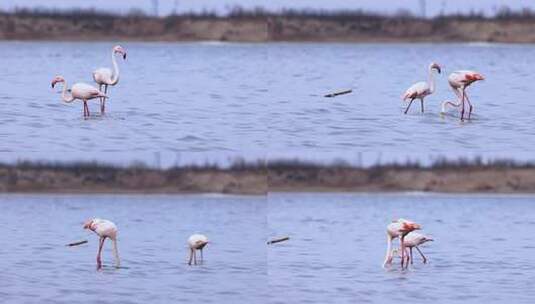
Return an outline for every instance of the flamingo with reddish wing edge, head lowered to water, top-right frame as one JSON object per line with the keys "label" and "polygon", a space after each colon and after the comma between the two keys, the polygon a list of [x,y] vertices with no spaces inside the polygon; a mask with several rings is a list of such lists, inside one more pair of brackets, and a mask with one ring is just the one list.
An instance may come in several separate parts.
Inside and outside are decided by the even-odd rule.
{"label": "flamingo with reddish wing edge, head lowered to water, top-right frame", "polygon": [[468,95],[466,94],[466,89],[474,82],[479,80],[485,80],[485,77],[481,75],[478,72],[474,71],[456,71],[450,74],[448,77],[448,82],[450,84],[450,87],[452,88],[455,95],[457,95],[457,98],[459,98],[458,103],[454,103],[451,101],[444,101],[442,103],[442,113],[446,112],[446,108],[448,105],[453,107],[459,107],[461,106],[461,121],[464,120],[464,111],[465,111],[465,100],[468,102],[469,110],[468,110],[468,119],[472,116],[472,110],[474,107],[472,106],[472,103],[470,102],[470,99],[468,98]]}

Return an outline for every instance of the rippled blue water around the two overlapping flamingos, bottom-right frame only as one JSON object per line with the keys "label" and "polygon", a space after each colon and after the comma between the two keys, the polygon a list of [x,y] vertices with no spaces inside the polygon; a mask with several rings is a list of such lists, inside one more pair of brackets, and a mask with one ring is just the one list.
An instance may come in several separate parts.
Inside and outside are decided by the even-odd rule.
{"label": "rippled blue water around the two overlapping flamingos, bottom-right frame only", "polygon": [[[272,303],[533,303],[535,197],[275,194]],[[381,265],[390,219],[423,225],[429,259]],[[397,242],[395,243],[397,246]]]}

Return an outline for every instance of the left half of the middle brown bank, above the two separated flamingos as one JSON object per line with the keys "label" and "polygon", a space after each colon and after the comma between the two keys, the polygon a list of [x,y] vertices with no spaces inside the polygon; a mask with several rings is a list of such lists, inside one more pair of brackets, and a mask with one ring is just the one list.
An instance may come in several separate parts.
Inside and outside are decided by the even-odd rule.
{"label": "left half of the middle brown bank, above the two separated flamingos", "polygon": [[19,164],[0,168],[0,192],[265,194],[259,168],[156,170],[84,164]]}

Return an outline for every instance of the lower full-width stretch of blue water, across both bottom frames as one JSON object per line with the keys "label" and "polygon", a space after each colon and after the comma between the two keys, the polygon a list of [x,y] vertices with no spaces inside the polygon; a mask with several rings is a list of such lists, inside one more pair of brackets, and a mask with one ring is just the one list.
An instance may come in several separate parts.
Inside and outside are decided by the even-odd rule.
{"label": "lower full-width stretch of blue water, across both bottom frames", "polygon": [[[1,195],[2,303],[533,303],[535,197],[275,193]],[[119,229],[96,271],[91,217]],[[429,259],[381,267],[385,229],[405,217]],[[186,239],[212,241],[188,266]],[[290,236],[267,246],[266,239]],[[88,244],[66,247],[73,241]]]}

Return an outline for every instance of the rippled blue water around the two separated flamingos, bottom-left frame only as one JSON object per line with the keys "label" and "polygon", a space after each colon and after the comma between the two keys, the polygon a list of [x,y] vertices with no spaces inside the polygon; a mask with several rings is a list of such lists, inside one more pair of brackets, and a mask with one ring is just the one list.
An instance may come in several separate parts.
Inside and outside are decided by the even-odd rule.
{"label": "rippled blue water around the two separated flamingos, bottom-left frame only", "polygon": [[[266,296],[265,199],[232,196],[3,195],[2,303],[261,303]],[[121,269],[90,217],[119,228]],[[212,241],[188,266],[186,240]],[[66,243],[87,239],[78,247]]]}

